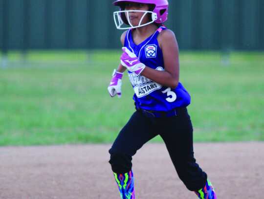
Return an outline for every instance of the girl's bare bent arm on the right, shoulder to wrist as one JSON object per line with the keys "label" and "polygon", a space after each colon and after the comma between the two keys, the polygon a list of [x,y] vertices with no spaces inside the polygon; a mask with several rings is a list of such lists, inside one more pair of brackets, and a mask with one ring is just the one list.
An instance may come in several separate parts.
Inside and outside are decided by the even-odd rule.
{"label": "girl's bare bent arm on the right, shoulder to wrist", "polygon": [[165,71],[146,66],[141,75],[163,86],[176,88],[179,83],[179,50],[176,37],[167,29],[160,32],[157,40],[162,50]]}

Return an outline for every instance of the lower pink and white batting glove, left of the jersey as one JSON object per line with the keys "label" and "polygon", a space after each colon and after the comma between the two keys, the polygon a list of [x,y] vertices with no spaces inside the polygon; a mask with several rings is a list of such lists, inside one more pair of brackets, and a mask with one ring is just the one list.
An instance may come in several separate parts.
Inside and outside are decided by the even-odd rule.
{"label": "lower pink and white batting glove, left of the jersey", "polygon": [[107,88],[111,97],[114,97],[115,95],[117,95],[118,98],[121,97],[122,76],[122,72],[117,72],[116,69],[114,69],[112,80]]}

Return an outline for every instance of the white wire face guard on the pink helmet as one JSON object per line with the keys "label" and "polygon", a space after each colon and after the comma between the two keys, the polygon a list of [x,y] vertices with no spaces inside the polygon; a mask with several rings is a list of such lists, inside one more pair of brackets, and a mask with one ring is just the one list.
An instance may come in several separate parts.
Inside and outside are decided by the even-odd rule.
{"label": "white wire face guard on the pink helmet", "polygon": [[[137,26],[133,26],[132,23],[130,22],[130,19],[129,17],[127,17],[127,21],[130,25],[130,27],[121,27],[124,22],[121,18],[121,13],[125,13],[126,16],[129,15],[129,12],[144,12],[143,16],[141,17],[139,23]],[[144,23],[144,24],[141,24],[143,18],[148,14],[148,13],[151,13],[152,14],[152,21],[151,22],[147,22],[147,23]],[[155,20],[157,20],[157,14],[152,12],[152,11],[142,11],[142,10],[133,10],[133,11],[129,11],[129,10],[123,10],[123,11],[116,11],[113,13],[113,17],[114,17],[114,22],[115,22],[115,26],[117,29],[120,29],[120,30],[124,30],[124,29],[130,29],[130,28],[137,28],[137,27],[142,27],[144,25],[148,25],[150,23],[153,23]]]}

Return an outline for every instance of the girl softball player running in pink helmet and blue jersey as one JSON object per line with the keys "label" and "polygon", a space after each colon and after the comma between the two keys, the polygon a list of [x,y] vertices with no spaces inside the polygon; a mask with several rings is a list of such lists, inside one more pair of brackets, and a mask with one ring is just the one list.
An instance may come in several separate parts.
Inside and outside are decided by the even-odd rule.
{"label": "girl softball player running in pink helmet and blue jersey", "polygon": [[135,198],[132,156],[160,135],[187,189],[199,199],[216,199],[211,182],[194,158],[193,127],[186,108],[190,95],[179,83],[178,45],[174,33],[162,26],[168,1],[117,0],[113,5],[120,7],[114,12],[116,27],[128,30],[121,36],[124,52],[108,90],[111,97],[121,97],[121,79],[128,69],[136,109],[109,150],[121,198]]}

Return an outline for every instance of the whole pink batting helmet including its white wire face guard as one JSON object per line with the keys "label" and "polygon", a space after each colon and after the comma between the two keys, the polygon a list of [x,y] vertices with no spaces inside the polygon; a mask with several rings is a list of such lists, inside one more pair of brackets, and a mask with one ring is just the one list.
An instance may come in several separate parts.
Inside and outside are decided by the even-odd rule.
{"label": "whole pink batting helmet including its white wire face guard", "polygon": [[[131,11],[125,11],[125,2],[126,1],[131,1],[131,2],[136,2],[136,3],[146,3],[149,4],[149,11],[139,11],[139,10],[133,10],[133,12],[146,12],[139,24],[137,26],[132,26],[131,22],[129,19],[126,18],[126,12],[132,12]],[[156,23],[162,23],[167,20],[168,16],[168,0],[117,0],[113,2],[113,5],[119,6],[120,11],[114,12],[114,21],[117,29],[129,29],[129,28],[136,28],[136,27],[141,27],[153,22]],[[145,15],[149,15],[149,21],[147,23],[141,24],[142,19],[144,18]],[[123,27],[123,24],[127,24],[130,27]],[[126,25],[125,25],[126,26]]]}

